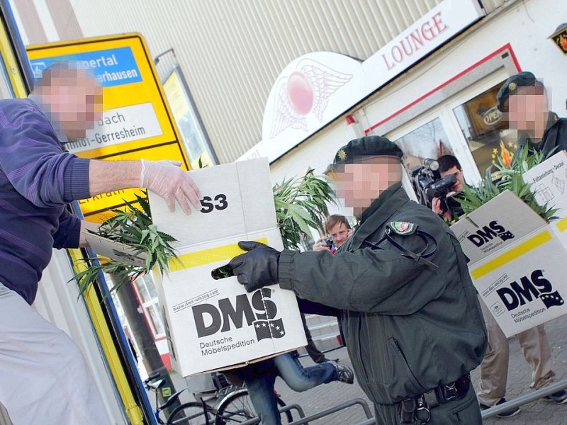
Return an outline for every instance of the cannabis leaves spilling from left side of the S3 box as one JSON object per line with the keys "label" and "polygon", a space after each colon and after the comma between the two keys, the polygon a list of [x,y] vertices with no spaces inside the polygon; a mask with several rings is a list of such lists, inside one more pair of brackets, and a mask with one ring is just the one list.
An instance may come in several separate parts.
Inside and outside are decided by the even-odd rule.
{"label": "cannabis leaves spilling from left side of the S3 box", "polygon": [[134,266],[115,259],[81,259],[79,261],[84,261],[86,268],[74,276],[79,283],[81,294],[96,281],[101,271],[116,276],[112,292],[118,290],[123,283],[149,273],[156,265],[160,273],[169,270],[169,260],[176,258],[176,251],[172,248],[172,242],[176,239],[157,230],[152,222],[147,198],[136,196],[136,200],[140,208],[126,202],[125,210],[112,210],[114,215],[100,225],[96,234],[129,245],[134,249],[135,255],[146,254],[145,265]]}

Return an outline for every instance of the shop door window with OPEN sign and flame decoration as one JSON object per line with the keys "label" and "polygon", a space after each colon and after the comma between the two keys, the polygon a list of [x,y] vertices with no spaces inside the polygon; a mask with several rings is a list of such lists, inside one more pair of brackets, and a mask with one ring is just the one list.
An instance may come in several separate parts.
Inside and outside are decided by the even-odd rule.
{"label": "shop door window with OPEN sign and flame decoration", "polygon": [[453,109],[481,174],[496,162],[497,156],[502,156],[505,151],[513,154],[517,148],[514,132],[507,129],[505,117],[496,107],[496,94],[502,84],[496,84]]}

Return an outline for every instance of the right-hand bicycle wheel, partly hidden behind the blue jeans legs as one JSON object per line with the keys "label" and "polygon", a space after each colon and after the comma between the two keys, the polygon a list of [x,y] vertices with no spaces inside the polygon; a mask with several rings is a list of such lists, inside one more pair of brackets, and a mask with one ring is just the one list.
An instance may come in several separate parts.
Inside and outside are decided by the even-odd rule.
{"label": "right-hand bicycle wheel, partly hidden behind the blue jeans legs", "polygon": [[[279,407],[284,407],[285,402],[281,398],[277,398]],[[252,400],[248,395],[248,390],[246,388],[241,388],[230,392],[225,399],[218,405],[217,417],[215,419],[215,425],[230,425],[240,422],[247,421],[258,416],[254,406],[252,406]],[[293,416],[291,412],[285,412],[283,418],[286,424],[291,424],[293,422]]]}

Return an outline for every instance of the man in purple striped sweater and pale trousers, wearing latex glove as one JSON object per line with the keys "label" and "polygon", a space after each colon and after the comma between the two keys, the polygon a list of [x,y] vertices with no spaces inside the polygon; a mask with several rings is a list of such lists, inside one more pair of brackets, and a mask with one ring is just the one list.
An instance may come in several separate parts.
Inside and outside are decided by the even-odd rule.
{"label": "man in purple striped sweater and pale trousers, wearing latex glove", "polygon": [[96,161],[64,152],[101,119],[101,87],[55,64],[29,99],[0,101],[0,402],[15,425],[110,424],[81,351],[30,305],[53,248],[85,246],[96,229],[72,200],[146,187],[186,212],[201,207],[189,173],[171,162]]}

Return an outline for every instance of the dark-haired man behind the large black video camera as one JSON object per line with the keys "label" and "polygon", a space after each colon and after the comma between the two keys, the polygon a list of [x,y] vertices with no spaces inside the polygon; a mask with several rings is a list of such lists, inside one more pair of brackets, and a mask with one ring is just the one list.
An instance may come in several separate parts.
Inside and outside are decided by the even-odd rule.
{"label": "dark-haired man behind the large black video camera", "polygon": [[456,181],[453,186],[447,188],[447,184],[444,186],[444,191],[435,193],[440,194],[441,196],[434,196],[432,198],[431,209],[433,212],[437,212],[437,214],[439,214],[446,222],[453,221],[455,217],[463,214],[461,205],[452,198],[454,195],[461,192],[466,184],[463,177],[463,171],[461,169],[459,159],[456,159],[453,155],[443,155],[437,159],[437,162],[439,163],[438,171],[441,176],[441,180],[445,179],[449,181],[447,177],[454,176]]}

